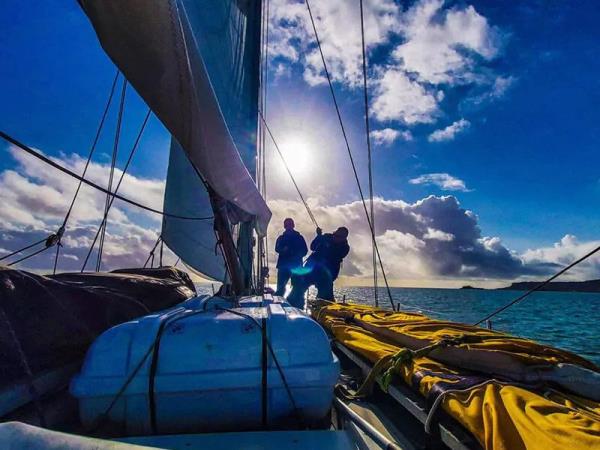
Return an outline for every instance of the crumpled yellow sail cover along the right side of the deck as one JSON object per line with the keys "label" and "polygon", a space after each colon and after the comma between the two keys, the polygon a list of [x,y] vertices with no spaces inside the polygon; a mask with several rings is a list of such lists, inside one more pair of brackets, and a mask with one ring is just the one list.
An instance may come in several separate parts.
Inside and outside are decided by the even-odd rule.
{"label": "crumpled yellow sail cover along the right side of the deck", "polygon": [[[575,354],[470,325],[364,305],[321,304],[313,314],[336,340],[372,363],[407,348],[418,355],[418,349],[429,346],[426,356],[396,364],[396,379],[426,398],[445,386],[440,406],[484,449],[600,449],[600,403],[557,389],[555,383],[535,383],[536,374],[543,378],[561,364],[600,372]],[[436,347],[444,340],[454,342]],[[484,381],[458,388],[475,374]]]}

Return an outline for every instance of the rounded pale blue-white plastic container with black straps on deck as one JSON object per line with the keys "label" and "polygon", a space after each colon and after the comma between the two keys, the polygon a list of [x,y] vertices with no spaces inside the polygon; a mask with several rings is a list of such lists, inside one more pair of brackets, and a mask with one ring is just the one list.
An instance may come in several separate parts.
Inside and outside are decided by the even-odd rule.
{"label": "rounded pale blue-white plastic container with black straps on deck", "polygon": [[186,302],[98,337],[71,383],[83,424],[96,424],[128,380],[108,419],[130,435],[261,428],[265,412],[268,427],[325,417],[339,362],[323,329],[287,303],[227,306]]}

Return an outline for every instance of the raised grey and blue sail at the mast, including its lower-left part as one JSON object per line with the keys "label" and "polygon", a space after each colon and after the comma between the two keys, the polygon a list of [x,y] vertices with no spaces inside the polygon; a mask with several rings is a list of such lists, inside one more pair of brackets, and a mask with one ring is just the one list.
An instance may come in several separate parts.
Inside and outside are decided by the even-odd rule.
{"label": "raised grey and blue sail at the mast, including its lower-left part", "polygon": [[[165,210],[205,213],[206,183],[231,205],[232,222],[250,216],[264,235],[271,212],[251,176],[260,0],[80,2],[105,51],[173,136]],[[188,265],[222,276],[212,225],[168,219],[163,232]]]}

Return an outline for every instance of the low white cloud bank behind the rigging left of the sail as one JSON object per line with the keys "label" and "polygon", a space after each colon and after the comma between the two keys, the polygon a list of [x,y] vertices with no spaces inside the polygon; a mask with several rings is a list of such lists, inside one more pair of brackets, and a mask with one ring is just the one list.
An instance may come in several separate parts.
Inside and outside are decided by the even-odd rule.
{"label": "low white cloud bank behind the rigging left of the sail", "polygon": [[[77,181],[48,169],[42,162],[9,148],[17,162],[14,170],[0,173],[0,248],[8,253],[56,232],[62,224]],[[85,160],[65,155],[52,158],[75,173],[82,173]],[[86,178],[106,185],[110,167],[92,163]],[[115,171],[116,179],[121,171]],[[164,182],[126,174],[119,190],[126,197],[162,209]],[[106,196],[83,186],[63,237],[59,268],[79,270],[104,211]],[[139,224],[140,220],[145,226]],[[105,269],[141,266],[157,238],[160,217],[140,213],[139,209],[115,200],[109,215],[103,252]],[[48,269],[53,264],[53,251],[44,252],[23,263],[24,268]],[[90,266],[88,266],[90,267]]]}

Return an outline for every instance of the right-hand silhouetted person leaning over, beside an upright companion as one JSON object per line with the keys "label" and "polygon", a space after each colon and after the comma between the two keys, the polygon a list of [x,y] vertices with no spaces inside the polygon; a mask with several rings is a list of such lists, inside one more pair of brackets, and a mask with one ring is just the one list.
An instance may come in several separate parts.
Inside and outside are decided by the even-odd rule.
{"label": "right-hand silhouetted person leaning over, beside an upright companion", "polygon": [[292,274],[292,292],[287,300],[296,308],[304,308],[304,294],[315,285],[317,297],[333,300],[333,282],[340,273],[342,260],[350,251],[348,228],[339,227],[333,233],[323,234],[317,228],[317,236],[310,244],[311,255],[301,271]]}

